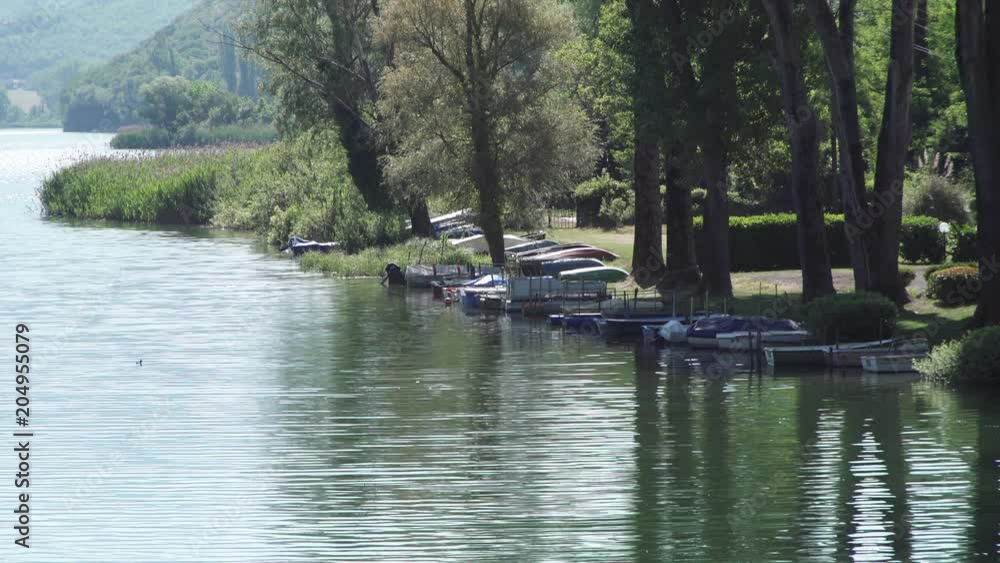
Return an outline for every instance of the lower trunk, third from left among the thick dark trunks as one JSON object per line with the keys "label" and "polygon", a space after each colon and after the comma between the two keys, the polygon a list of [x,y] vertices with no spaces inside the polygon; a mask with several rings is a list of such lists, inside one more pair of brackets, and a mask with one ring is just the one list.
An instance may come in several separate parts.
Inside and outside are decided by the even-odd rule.
{"label": "lower trunk, third from left among the thick dark trunks", "polygon": [[708,191],[705,247],[700,257],[702,283],[712,295],[730,296],[733,282],[729,272],[729,157],[722,139],[711,134],[702,142],[701,152]]}

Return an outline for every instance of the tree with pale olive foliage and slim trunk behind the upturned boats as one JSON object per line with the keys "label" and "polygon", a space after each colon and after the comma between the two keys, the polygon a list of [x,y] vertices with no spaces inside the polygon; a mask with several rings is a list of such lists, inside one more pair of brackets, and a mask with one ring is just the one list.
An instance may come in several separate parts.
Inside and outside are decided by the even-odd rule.
{"label": "tree with pale olive foliage and slim trunk behind the upturned boats", "polygon": [[378,105],[394,183],[475,188],[494,263],[508,206],[521,212],[592,172],[593,131],[560,86],[556,51],[572,14],[554,0],[396,0],[381,20],[395,48]]}

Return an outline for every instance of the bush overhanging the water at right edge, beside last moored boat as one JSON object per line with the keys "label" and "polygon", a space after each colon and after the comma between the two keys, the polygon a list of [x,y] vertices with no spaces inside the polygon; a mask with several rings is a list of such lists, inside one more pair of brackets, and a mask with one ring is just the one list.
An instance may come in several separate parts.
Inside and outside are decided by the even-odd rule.
{"label": "bush overhanging the water at right edge, beside last moored boat", "polygon": [[924,377],[949,385],[1000,383],[1000,327],[975,330],[942,344],[926,359],[914,362]]}

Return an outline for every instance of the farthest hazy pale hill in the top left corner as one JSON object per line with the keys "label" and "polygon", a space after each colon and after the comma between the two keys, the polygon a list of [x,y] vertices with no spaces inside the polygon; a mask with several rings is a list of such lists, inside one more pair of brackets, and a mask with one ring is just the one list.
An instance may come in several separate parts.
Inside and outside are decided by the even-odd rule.
{"label": "farthest hazy pale hill in the top left corner", "polygon": [[197,0],[0,1],[0,79],[60,63],[106,61],[135,47]]}

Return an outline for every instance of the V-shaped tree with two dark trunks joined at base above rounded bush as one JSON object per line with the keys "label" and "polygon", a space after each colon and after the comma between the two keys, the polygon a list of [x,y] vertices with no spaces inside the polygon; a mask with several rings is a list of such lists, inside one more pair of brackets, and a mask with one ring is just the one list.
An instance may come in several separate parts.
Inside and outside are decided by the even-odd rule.
{"label": "V-shaped tree with two dark trunks joined at base above rounded bush", "polygon": [[899,283],[899,230],[905,159],[912,134],[914,6],[912,0],[892,0],[890,64],[872,194],[865,183],[868,165],[858,118],[856,6],[857,0],[842,0],[835,17],[826,0],[806,2],[833,83],[845,229],[855,289],[876,291],[900,301],[905,294]]}

